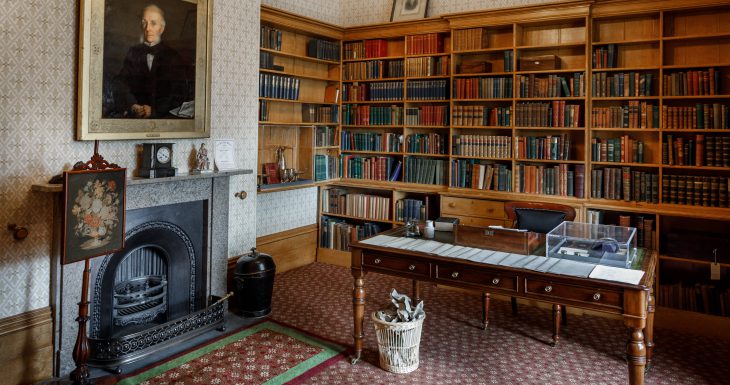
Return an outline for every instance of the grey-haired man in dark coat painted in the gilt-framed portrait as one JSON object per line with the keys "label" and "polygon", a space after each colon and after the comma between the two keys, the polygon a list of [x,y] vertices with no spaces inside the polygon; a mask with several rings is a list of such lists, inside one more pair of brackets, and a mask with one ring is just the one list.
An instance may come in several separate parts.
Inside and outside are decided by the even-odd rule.
{"label": "grey-haired man in dark coat painted in the gilt-framed portrait", "polygon": [[[141,15],[141,39],[130,47],[118,74],[105,82],[104,117],[192,118],[193,66],[165,44],[165,12],[147,5]],[[108,74],[107,74],[108,76]],[[181,108],[183,106],[184,108]]]}

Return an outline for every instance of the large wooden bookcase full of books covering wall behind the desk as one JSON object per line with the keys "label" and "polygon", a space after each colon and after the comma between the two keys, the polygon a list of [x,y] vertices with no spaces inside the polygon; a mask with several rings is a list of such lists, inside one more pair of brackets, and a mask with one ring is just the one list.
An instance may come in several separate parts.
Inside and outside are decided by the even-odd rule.
{"label": "large wooden bookcase full of books covering wall behind the desk", "polygon": [[[333,189],[388,197],[389,217],[378,220],[384,228],[402,223],[396,202],[405,198],[428,197],[440,208],[429,218],[475,224],[504,223],[499,213],[475,210],[505,201],[568,204],[578,221],[639,228],[640,245],[660,251],[660,314],[727,327],[730,318],[716,316],[730,310],[727,20],[728,1],[607,0],[344,29],[343,167],[320,200]],[[422,51],[423,36],[442,45]],[[433,70],[447,62],[447,73]],[[308,73],[319,82],[311,86],[317,95],[336,84],[330,71]],[[416,93],[442,79],[445,99]],[[378,87],[391,92],[387,100],[373,100]],[[446,116],[434,112],[442,106]],[[285,136],[301,143],[305,131]],[[353,159],[357,171],[348,168]],[[424,159],[446,165],[443,180],[418,172],[411,179],[416,167],[433,164]],[[327,210],[320,205],[320,220],[372,221]],[[720,280],[710,279],[715,248]],[[346,252],[328,248],[318,258],[349,263]]]}

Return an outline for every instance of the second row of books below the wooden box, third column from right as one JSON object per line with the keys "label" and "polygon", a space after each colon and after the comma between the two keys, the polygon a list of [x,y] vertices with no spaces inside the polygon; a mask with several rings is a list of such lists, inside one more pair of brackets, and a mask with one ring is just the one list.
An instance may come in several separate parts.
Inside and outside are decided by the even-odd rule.
{"label": "second row of books below the wooden box, third column from right", "polygon": [[517,103],[515,123],[518,127],[581,127],[581,106],[564,100],[549,103]]}

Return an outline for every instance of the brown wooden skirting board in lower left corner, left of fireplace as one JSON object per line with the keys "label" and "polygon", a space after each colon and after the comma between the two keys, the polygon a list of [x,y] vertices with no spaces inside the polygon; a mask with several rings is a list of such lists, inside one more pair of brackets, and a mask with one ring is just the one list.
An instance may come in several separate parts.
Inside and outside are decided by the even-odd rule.
{"label": "brown wooden skirting board in lower left corner, left of fireplace", "polygon": [[0,385],[33,384],[53,373],[53,320],[44,307],[0,319]]}

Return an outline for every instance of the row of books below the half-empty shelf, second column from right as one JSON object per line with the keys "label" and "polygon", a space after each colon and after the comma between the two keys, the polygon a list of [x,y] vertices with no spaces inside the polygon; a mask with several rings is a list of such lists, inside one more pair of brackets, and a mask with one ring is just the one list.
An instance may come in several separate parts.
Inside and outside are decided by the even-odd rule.
{"label": "row of books below the half-empty shelf, second column from right", "polygon": [[654,74],[639,72],[593,74],[591,95],[594,97],[652,96]]}

